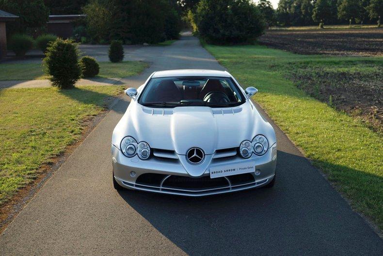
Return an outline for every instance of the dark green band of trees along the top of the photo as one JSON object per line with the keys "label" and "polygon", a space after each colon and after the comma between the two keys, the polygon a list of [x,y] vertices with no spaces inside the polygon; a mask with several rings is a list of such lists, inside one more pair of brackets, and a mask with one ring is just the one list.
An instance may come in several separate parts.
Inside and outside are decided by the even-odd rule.
{"label": "dark green band of trees along the top of the photo", "polygon": [[48,15],[86,14],[73,34],[83,43],[155,44],[188,26],[211,41],[243,43],[267,26],[380,25],[383,0],[280,0],[276,10],[270,0],[0,0],[0,9],[19,16],[7,36],[46,33]]}

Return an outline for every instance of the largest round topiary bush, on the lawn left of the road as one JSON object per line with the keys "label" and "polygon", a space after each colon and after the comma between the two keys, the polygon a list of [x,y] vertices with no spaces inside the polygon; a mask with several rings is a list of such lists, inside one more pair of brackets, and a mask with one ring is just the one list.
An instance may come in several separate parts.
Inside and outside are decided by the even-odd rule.
{"label": "largest round topiary bush, on the lawn left of the road", "polygon": [[78,44],[73,40],[57,38],[47,47],[44,67],[53,86],[71,88],[80,79]]}

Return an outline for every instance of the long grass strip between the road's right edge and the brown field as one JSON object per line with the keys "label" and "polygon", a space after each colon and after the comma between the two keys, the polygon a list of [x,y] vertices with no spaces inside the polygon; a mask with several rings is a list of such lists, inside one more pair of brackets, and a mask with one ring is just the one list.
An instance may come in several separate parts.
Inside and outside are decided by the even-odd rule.
{"label": "long grass strip between the road's right edge and the brown field", "polygon": [[265,46],[205,47],[243,87],[258,88],[255,101],[351,199],[353,207],[383,229],[382,136],[359,120],[308,96],[287,79],[297,63],[300,67],[307,64],[333,71],[354,67],[369,72],[371,64],[382,66],[383,58],[299,55]]}

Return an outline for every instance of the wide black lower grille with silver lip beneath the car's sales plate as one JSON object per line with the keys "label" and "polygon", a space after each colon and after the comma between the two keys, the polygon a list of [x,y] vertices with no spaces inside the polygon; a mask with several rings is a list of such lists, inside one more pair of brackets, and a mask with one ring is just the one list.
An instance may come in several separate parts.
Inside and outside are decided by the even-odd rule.
{"label": "wide black lower grille with silver lip beneath the car's sales plate", "polygon": [[268,179],[256,182],[252,173],[214,179],[211,179],[209,176],[192,178],[188,176],[144,173],[137,178],[135,184],[128,182],[124,182],[124,184],[146,191],[198,196],[252,188],[262,185],[267,181]]}

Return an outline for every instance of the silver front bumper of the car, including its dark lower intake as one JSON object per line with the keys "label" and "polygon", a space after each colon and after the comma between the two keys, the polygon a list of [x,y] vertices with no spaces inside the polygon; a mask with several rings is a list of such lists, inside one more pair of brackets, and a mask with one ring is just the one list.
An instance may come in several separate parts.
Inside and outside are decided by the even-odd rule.
{"label": "silver front bumper of the car, including its dark lower intake", "polygon": [[[178,155],[178,157],[185,156]],[[255,163],[255,169],[260,172],[259,175],[251,172],[223,178],[210,179],[209,177],[209,168],[248,161]],[[148,160],[141,160],[137,155],[128,158],[113,145],[112,166],[115,180],[124,188],[183,196],[221,194],[269,184],[275,175],[276,144],[272,145],[263,156],[253,154],[249,159],[239,156],[212,159],[207,170],[199,178],[192,178],[178,159],[151,157]],[[135,172],[134,176],[130,175],[131,171]],[[145,181],[143,177],[149,177],[150,182]],[[197,183],[201,183],[201,186]]]}

